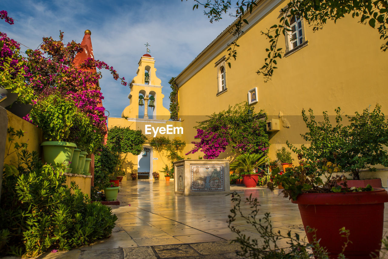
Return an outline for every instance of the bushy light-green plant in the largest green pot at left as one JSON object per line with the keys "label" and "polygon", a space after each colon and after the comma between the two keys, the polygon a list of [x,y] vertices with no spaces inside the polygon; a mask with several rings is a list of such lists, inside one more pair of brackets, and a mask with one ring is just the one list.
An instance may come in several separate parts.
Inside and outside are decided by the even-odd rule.
{"label": "bushy light-green plant in the largest green pot at left", "polygon": [[41,144],[43,157],[52,165],[64,163],[69,168],[75,148],[93,152],[103,137],[90,119],[78,112],[73,101],[58,93],[38,100],[29,117],[47,139]]}

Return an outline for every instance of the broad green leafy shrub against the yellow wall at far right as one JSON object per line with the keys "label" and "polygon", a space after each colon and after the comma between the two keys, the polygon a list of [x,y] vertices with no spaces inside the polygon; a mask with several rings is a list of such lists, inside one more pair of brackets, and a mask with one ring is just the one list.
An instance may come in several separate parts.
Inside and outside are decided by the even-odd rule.
{"label": "broad green leafy shrub against the yellow wall at far right", "polygon": [[323,165],[323,159],[336,161],[345,172],[351,172],[354,180],[360,180],[360,173],[373,165],[388,166],[388,120],[376,104],[371,111],[365,108],[362,114],[346,115],[349,125],[343,126],[341,109],[335,109],[335,124],[332,125],[327,112],[323,112],[323,121],[316,121],[312,109],[302,110],[303,121],[308,132],[301,134],[310,145],[297,148],[287,142],[293,152],[301,154],[308,163]]}

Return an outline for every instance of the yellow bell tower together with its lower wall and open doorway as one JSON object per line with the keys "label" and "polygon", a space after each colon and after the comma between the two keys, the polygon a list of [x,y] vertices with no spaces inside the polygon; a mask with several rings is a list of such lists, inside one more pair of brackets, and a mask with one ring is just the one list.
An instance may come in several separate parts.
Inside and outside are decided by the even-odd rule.
{"label": "yellow bell tower together with its lower wall and open doorway", "polygon": [[[121,118],[108,118],[108,128],[121,126],[140,129],[148,138],[139,156],[127,154],[124,165],[126,180],[132,179],[131,173],[138,173],[139,178],[152,179],[152,172],[159,172],[166,165],[171,167],[172,164],[165,154],[158,148],[154,150],[150,141],[153,137],[165,136],[173,139],[180,138],[183,134],[180,121],[168,121],[170,112],[163,107],[165,97],[162,94],[163,86],[161,80],[156,77],[154,65],[155,60],[151,55],[144,54],[140,58],[137,75],[130,84],[129,105],[123,110]],[[151,114],[148,112],[149,109]],[[163,180],[164,175],[160,172],[159,174]]]}

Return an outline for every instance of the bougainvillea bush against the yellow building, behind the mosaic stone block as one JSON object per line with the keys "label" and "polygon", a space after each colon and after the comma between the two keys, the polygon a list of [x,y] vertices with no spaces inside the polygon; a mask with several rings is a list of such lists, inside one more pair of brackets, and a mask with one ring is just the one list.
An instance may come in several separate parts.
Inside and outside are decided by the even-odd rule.
{"label": "bougainvillea bush against the yellow building, behind the mosaic stone block", "polygon": [[263,111],[255,113],[247,102],[209,115],[209,119],[198,122],[195,138],[199,141],[191,142],[194,148],[186,155],[201,151],[204,159],[215,159],[227,147],[235,153],[267,154],[268,134],[265,120],[260,120],[260,115],[265,114]]}

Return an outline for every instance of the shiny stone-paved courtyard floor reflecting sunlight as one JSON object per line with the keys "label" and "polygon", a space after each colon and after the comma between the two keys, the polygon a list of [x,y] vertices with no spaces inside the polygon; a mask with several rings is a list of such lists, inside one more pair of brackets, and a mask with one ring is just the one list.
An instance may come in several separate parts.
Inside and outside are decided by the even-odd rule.
{"label": "shiny stone-paved courtyard floor reflecting sunlight", "polygon": [[[112,236],[93,245],[65,252],[46,253],[39,258],[239,258],[236,237],[228,228],[228,215],[233,207],[231,196],[176,196],[174,182],[137,180],[120,183],[120,206],[112,206],[118,216]],[[241,197],[257,197],[259,217],[271,213],[276,231],[297,232],[303,238],[305,231],[298,205],[283,198],[280,191],[263,187],[231,186]],[[251,209],[242,205],[248,214]],[[388,219],[385,210],[385,220]],[[241,217],[234,225],[242,233],[258,237],[256,230]],[[387,233],[388,222],[384,222]],[[282,245],[282,243],[279,243]]]}

